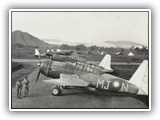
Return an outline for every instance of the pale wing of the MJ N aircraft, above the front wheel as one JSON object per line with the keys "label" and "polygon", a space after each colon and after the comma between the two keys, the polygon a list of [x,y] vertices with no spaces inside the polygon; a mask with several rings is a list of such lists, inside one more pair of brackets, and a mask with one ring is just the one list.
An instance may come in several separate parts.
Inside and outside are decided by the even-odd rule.
{"label": "pale wing of the MJ N aircraft, above the front wheel", "polygon": [[59,79],[43,80],[46,83],[62,86],[81,86],[87,87],[90,83],[77,76],[61,74]]}

